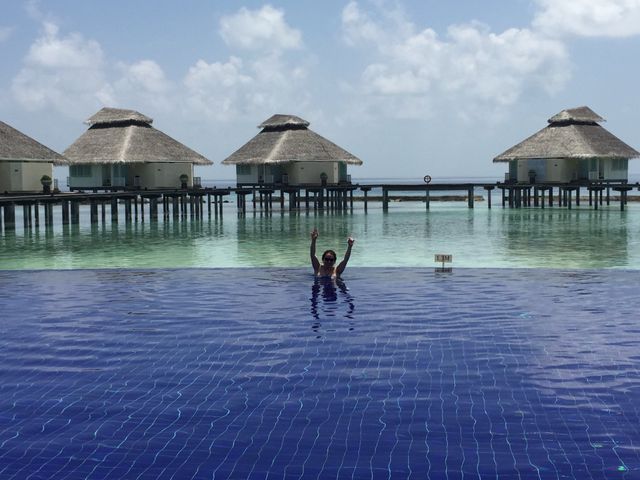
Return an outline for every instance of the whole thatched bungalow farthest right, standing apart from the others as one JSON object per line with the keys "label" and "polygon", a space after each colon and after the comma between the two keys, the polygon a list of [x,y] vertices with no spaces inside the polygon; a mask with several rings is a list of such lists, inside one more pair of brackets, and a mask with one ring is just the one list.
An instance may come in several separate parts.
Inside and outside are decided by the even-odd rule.
{"label": "whole thatched bungalow farthest right, standing apart from the others", "polygon": [[511,182],[626,181],[628,161],[640,152],[598,125],[603,121],[589,107],[563,110],[493,161],[509,163]]}

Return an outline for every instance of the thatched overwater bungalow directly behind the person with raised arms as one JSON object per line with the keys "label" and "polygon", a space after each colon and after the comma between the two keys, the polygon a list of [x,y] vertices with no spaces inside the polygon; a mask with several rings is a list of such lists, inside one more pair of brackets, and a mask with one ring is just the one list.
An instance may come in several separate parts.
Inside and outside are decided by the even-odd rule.
{"label": "thatched overwater bungalow directly behind the person with raised arms", "polygon": [[295,115],[273,115],[222,164],[236,166],[238,185],[350,183],[347,165],[362,165],[362,160],[308,127]]}

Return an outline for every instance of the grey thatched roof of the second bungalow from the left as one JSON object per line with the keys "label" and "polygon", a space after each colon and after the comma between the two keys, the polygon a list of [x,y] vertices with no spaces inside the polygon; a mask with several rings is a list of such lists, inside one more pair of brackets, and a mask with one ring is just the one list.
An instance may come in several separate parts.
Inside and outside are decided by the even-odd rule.
{"label": "grey thatched roof of the second bungalow from the left", "polygon": [[91,126],[64,151],[71,164],[213,162],[151,126],[153,120],[134,110],[103,108]]}

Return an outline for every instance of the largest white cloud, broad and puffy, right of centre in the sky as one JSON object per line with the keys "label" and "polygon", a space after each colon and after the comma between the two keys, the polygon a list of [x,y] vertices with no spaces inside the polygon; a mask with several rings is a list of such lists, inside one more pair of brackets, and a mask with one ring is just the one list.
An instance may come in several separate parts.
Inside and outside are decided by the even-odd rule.
{"label": "largest white cloud, broad and puffy, right of centre in the sky", "polygon": [[393,22],[374,21],[356,2],[345,7],[342,20],[347,43],[373,52],[360,90],[395,97],[397,116],[424,116],[407,107],[436,100],[511,105],[529,88],[553,91],[568,79],[564,44],[533,30],[493,33],[472,22],[449,27],[440,38],[429,28],[418,31],[397,12]]}

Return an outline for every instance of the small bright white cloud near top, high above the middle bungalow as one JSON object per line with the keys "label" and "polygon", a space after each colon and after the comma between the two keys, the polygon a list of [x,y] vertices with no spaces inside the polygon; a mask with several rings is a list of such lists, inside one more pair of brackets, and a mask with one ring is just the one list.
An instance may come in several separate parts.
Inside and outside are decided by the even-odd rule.
{"label": "small bright white cloud near top, high above the middle bungalow", "polygon": [[302,47],[302,34],[291,28],[284,12],[270,5],[260,10],[241,8],[220,20],[220,35],[231,47],[279,51]]}

